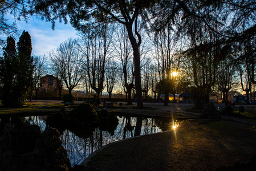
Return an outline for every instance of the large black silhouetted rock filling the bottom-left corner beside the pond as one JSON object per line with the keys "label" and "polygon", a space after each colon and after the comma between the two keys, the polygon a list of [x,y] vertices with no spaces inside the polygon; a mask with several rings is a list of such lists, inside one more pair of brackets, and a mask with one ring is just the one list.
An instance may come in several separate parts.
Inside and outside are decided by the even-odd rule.
{"label": "large black silhouetted rock filling the bottom-left corner beside the pond", "polygon": [[6,124],[0,138],[0,170],[71,170],[61,144],[55,128],[41,133],[36,125],[12,129]]}

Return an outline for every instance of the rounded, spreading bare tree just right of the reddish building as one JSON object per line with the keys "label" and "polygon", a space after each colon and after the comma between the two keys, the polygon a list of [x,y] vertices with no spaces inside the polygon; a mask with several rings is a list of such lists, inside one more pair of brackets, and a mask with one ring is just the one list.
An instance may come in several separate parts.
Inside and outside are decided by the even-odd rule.
{"label": "rounded, spreading bare tree just right of the reddish building", "polygon": [[78,86],[84,73],[83,56],[80,54],[76,40],[70,38],[60,43],[60,46],[56,50],[52,50],[49,56],[71,95],[72,89]]}

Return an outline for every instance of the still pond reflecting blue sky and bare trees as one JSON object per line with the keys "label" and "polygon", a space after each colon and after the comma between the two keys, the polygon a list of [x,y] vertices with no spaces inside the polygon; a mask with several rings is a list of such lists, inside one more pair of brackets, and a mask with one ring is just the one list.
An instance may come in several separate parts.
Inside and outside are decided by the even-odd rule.
{"label": "still pond reflecting blue sky and bare trees", "polygon": [[[19,122],[38,125],[41,131],[44,131],[46,118],[47,116],[26,116],[19,117],[18,120],[20,120]],[[131,116],[118,116],[117,118],[119,119],[119,124],[114,131],[102,131],[99,128],[89,131],[89,133],[87,130],[78,132],[66,129],[60,131],[62,146],[67,149],[68,158],[72,166],[80,164],[92,152],[109,143],[129,137],[166,131],[173,127],[173,121],[169,118],[153,119],[150,117]],[[14,127],[14,123],[19,123],[16,121],[16,117],[11,117],[9,120],[12,127]]]}

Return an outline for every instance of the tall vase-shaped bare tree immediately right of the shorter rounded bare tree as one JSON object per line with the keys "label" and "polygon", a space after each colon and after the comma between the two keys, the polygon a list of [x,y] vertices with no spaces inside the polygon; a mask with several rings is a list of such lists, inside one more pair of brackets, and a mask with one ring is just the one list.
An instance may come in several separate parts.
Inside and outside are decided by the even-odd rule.
{"label": "tall vase-shaped bare tree immediately right of the shorter rounded bare tree", "polygon": [[86,70],[90,87],[96,91],[97,97],[100,96],[100,92],[104,89],[105,70],[107,62],[111,58],[112,36],[113,27],[109,23],[105,23],[81,35],[84,44],[80,50],[86,58],[84,69]]}

